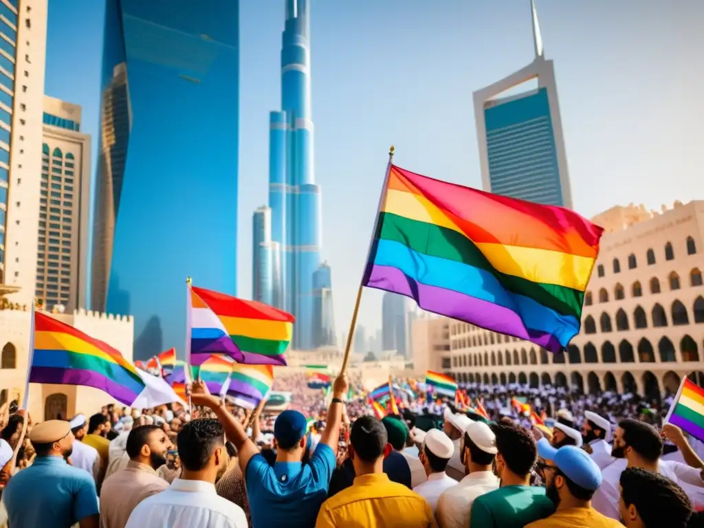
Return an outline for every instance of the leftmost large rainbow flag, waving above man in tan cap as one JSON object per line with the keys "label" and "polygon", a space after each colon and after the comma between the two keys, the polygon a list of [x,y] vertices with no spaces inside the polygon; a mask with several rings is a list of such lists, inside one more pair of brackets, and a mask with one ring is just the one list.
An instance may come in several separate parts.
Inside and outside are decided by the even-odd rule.
{"label": "leftmost large rainbow flag, waving above man in tan cap", "polygon": [[131,406],[144,389],[133,365],[112,346],[44,313],[34,313],[31,383],[91,386]]}

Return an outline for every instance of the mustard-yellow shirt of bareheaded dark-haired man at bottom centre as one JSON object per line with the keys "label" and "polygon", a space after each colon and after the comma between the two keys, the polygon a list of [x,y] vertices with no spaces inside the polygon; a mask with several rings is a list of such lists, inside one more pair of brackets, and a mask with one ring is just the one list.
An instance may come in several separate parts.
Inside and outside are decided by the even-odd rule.
{"label": "mustard-yellow shirt of bareheaded dark-haired man at bottom centre", "polygon": [[[320,507],[316,528],[427,528],[436,527],[425,498],[385,473],[365,474],[351,487],[327,499]],[[596,527],[594,527],[596,528]]]}

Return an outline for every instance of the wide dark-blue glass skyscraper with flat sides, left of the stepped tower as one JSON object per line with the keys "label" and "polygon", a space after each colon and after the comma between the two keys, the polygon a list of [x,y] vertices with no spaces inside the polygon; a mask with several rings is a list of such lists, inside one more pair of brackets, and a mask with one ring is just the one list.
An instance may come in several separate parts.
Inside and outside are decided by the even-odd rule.
{"label": "wide dark-blue glass skyscraper with flat sides, left of the stepped tower", "polygon": [[135,358],[181,348],[186,277],[237,293],[238,122],[237,0],[107,0],[92,308]]}

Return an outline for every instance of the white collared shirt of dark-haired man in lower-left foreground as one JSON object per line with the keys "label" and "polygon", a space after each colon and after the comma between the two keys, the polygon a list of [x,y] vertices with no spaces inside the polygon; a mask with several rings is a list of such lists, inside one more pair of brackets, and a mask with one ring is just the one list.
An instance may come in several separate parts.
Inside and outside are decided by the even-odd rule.
{"label": "white collared shirt of dark-haired man in lower-left foreground", "polygon": [[168,489],[145,498],[125,528],[247,528],[244,510],[218,496],[215,485],[175,479]]}

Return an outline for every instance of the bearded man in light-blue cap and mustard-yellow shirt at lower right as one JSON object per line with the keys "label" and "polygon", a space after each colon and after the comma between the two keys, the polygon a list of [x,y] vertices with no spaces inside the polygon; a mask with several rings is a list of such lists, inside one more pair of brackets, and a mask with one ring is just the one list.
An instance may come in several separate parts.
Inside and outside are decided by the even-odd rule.
{"label": "bearded man in light-blue cap and mustard-yellow shirt at lower right", "polygon": [[555,449],[546,439],[538,442],[544,459],[545,494],[555,504],[555,513],[526,528],[615,528],[621,524],[591,507],[591,498],[601,486],[601,470],[588,453],[574,446]]}

